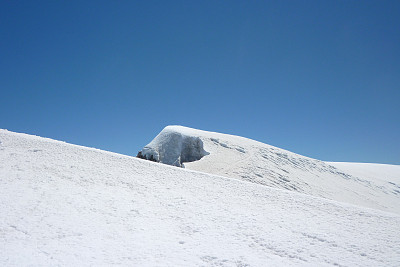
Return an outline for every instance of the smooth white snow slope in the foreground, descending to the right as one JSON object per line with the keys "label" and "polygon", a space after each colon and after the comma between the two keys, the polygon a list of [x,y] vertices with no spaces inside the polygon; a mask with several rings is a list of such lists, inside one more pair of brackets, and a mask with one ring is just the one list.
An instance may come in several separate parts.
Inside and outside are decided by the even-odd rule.
{"label": "smooth white snow slope in the foreground, descending to the right", "polygon": [[0,142],[0,266],[400,266],[398,214],[5,130]]}

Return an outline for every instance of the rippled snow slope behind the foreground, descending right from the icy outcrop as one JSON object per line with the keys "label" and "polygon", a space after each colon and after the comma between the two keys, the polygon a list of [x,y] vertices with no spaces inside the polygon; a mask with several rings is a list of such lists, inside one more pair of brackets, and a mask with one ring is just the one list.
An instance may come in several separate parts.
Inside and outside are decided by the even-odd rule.
{"label": "rippled snow slope behind the foreground, descending right from the icy outcrop", "polygon": [[[172,134],[174,137],[169,138]],[[179,147],[177,135],[200,139],[201,148],[209,153],[198,161],[184,163],[187,169],[400,213],[400,166],[391,166],[387,180],[377,180],[368,174],[370,169],[347,171],[343,164],[304,157],[239,136],[182,126],[166,127],[146,146],[148,157],[161,154],[168,159],[166,150],[157,148]],[[186,153],[182,151],[182,155]],[[380,173],[379,166],[372,169]]]}

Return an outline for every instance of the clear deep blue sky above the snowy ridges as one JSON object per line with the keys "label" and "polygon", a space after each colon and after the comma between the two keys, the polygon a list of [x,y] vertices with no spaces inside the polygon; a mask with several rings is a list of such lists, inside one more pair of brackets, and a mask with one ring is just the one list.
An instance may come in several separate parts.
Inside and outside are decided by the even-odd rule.
{"label": "clear deep blue sky above the snowy ridges", "polygon": [[1,1],[0,128],[136,155],[166,125],[400,164],[400,1]]}

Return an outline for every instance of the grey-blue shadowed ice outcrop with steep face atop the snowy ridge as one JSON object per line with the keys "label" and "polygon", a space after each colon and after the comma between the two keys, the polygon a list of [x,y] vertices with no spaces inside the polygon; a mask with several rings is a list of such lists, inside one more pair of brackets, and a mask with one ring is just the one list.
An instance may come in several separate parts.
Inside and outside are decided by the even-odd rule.
{"label": "grey-blue shadowed ice outcrop with steep face atop the snowy ridge", "polygon": [[184,162],[193,162],[208,154],[198,136],[180,131],[177,126],[167,126],[139,152],[138,157],[182,167]]}

